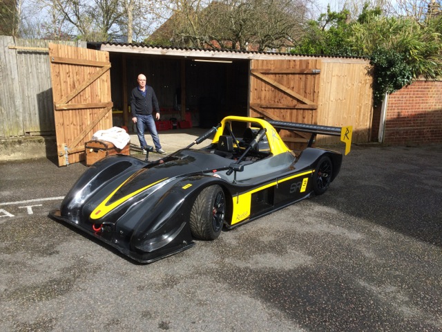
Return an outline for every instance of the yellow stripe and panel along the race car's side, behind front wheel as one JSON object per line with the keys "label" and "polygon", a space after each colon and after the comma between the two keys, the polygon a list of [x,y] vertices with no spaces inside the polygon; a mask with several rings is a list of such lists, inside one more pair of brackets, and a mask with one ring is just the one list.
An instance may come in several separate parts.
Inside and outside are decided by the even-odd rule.
{"label": "yellow stripe and panel along the race car's side, behind front wheel", "polygon": [[[238,196],[233,196],[233,213],[232,213],[232,222],[231,225],[239,223],[250,216],[251,209],[251,195],[259,192],[261,190],[265,190],[269,187],[273,187],[274,185],[278,185],[278,183],[282,183],[285,181],[289,181],[292,178],[298,178],[300,176],[305,176],[308,174],[313,174],[315,171],[311,169],[311,171],[303,172],[300,174],[287,176],[287,178],[282,178],[281,180],[274,181],[272,183],[267,183],[267,185],[263,185],[262,187],[255,188],[249,192],[244,192],[244,194],[240,194]],[[305,185],[307,186],[307,181],[305,181]],[[305,191],[305,187],[304,187]]]}

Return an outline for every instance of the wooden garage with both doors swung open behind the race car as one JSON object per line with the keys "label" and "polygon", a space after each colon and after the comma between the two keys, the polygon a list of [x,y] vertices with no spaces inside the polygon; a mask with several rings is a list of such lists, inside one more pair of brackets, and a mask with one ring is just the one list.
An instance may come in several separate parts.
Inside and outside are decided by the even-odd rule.
{"label": "wooden garage with both doors swung open behind the race car", "polygon": [[[354,142],[369,140],[372,77],[365,59],[134,44],[98,47],[50,44],[59,165],[84,160],[84,143],[97,130],[127,126],[133,131],[129,95],[139,73],[155,89],[161,120],[177,119],[181,128],[209,128],[227,115],[252,116],[352,125]],[[290,149],[302,149],[309,140],[302,132],[282,130],[280,136]],[[318,136],[316,142],[337,141]]]}

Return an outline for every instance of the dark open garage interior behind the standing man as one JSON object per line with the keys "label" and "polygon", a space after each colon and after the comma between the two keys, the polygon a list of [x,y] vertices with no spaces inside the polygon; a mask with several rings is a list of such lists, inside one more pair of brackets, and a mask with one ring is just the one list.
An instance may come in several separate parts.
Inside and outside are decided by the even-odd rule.
{"label": "dark open garage interior behind the standing man", "polygon": [[147,84],[157,95],[160,120],[176,119],[178,126],[180,121],[188,120],[192,127],[210,128],[224,116],[247,116],[248,59],[208,60],[113,52],[109,56],[115,126],[127,126],[134,132],[130,95],[140,73],[146,75]]}

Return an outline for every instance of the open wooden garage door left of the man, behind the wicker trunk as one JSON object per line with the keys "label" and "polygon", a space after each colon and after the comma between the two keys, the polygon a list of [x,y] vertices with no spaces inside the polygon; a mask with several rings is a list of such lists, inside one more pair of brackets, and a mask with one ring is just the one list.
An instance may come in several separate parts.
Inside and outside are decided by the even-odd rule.
{"label": "open wooden garage door left of the man, behind the wicker trunk", "polygon": [[109,53],[49,44],[59,166],[84,160],[84,143],[112,127]]}

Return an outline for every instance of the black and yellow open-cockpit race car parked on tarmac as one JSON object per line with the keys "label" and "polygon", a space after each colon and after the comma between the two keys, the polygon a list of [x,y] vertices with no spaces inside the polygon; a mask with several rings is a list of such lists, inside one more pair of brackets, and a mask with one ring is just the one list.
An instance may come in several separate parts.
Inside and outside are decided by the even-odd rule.
{"label": "black and yellow open-cockpit race car parked on tarmac", "polygon": [[[308,147],[291,151],[281,129],[311,133]],[[50,216],[150,263],[191,248],[194,239],[216,239],[222,229],[323,194],[343,156],[312,147],[317,134],[340,136],[348,153],[351,127],[228,116],[155,162],[123,155],[100,160]],[[212,136],[211,145],[192,148]]]}

